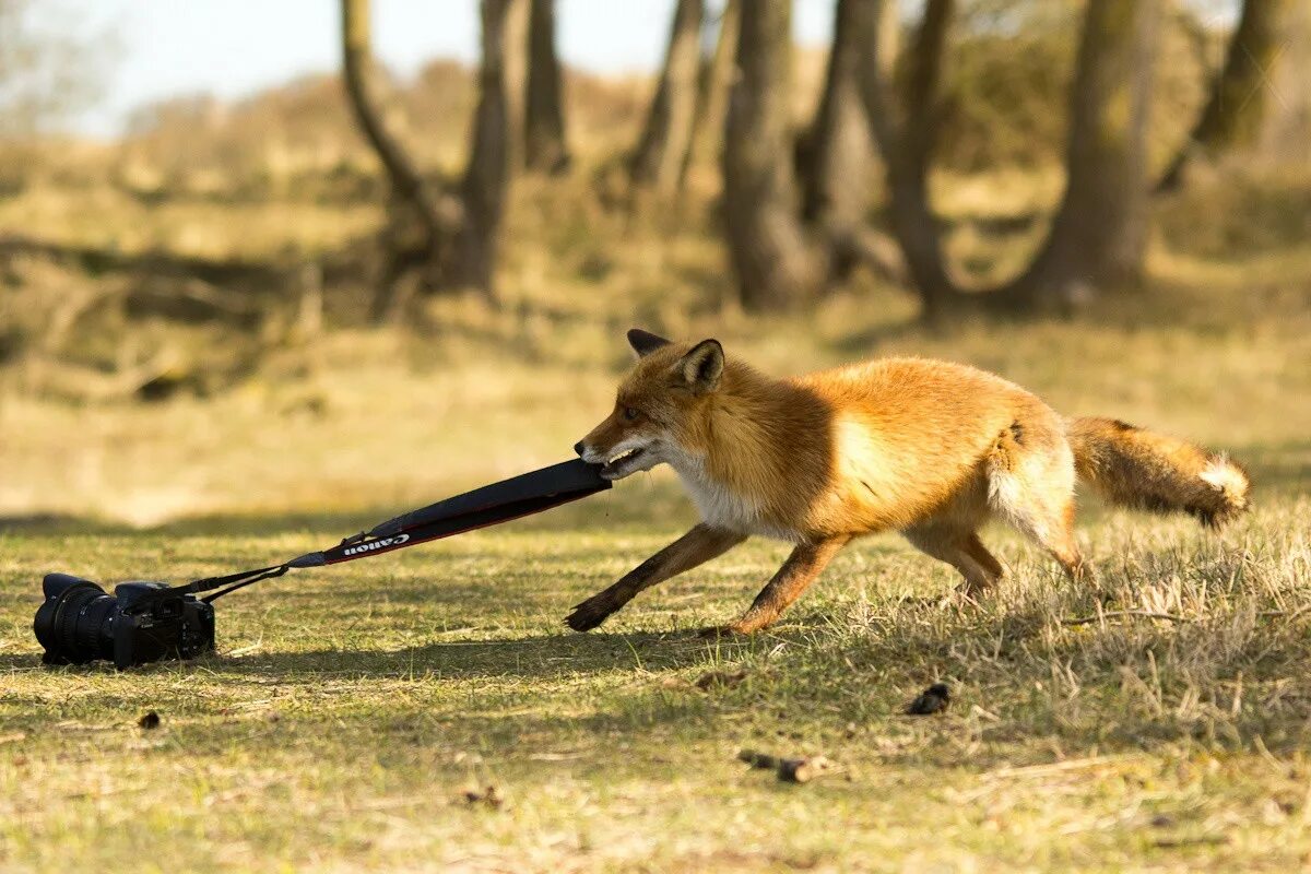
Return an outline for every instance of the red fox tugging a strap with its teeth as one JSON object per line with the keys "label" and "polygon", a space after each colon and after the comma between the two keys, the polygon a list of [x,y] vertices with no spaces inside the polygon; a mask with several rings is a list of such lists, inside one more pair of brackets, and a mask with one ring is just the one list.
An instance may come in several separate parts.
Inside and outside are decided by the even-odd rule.
{"label": "red fox tugging a strap with its teeth", "polygon": [[574,449],[610,480],[669,464],[703,522],[574,607],[565,622],[578,632],[751,535],[796,548],[724,633],[766,628],[848,541],[880,531],[952,565],[977,596],[1006,575],[977,533],[998,516],[1078,580],[1076,478],[1114,504],[1209,527],[1248,506],[1247,473],[1223,455],[1116,419],[1063,418],[973,367],[891,358],[772,379],[714,339],[633,329],[628,341],[637,364]]}

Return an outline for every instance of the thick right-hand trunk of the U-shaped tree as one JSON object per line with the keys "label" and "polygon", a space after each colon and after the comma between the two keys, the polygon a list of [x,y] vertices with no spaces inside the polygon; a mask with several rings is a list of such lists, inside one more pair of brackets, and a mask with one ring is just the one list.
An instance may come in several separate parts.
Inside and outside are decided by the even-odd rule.
{"label": "thick right-hand trunk of the U-shaped tree", "polygon": [[1013,300],[1065,308],[1142,278],[1160,3],[1088,3],[1071,93],[1066,193],[1046,244],[1009,290]]}

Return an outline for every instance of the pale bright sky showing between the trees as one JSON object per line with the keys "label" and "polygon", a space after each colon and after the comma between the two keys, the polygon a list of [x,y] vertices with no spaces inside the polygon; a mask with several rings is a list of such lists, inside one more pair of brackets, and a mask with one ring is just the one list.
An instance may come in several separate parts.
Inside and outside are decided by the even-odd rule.
{"label": "pale bright sky showing between the trees", "polygon": [[[109,26],[119,43],[105,98],[73,122],[84,134],[115,134],[134,107],[163,97],[241,97],[340,63],[337,0],[56,1],[83,28]],[[674,0],[557,3],[566,64],[614,73],[659,63]],[[431,58],[476,56],[477,0],[374,0],[372,8],[374,50],[401,75]],[[826,42],[831,14],[832,0],[797,0],[798,41]]]}

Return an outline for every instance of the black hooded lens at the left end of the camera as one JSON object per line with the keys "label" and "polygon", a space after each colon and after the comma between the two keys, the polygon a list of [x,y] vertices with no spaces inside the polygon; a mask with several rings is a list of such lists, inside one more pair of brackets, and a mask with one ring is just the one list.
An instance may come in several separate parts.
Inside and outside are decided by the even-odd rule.
{"label": "black hooded lens at the left end of the camera", "polygon": [[47,574],[45,603],[33,630],[46,647],[47,664],[85,664],[114,658],[114,617],[118,600],[88,579]]}

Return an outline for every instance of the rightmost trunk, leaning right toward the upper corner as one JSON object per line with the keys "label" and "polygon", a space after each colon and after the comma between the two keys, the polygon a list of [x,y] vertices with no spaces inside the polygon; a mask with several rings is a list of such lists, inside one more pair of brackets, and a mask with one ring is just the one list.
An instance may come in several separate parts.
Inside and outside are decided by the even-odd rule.
{"label": "rightmost trunk, leaning right toward the upper corner", "polygon": [[1210,98],[1179,155],[1162,177],[1159,190],[1183,180],[1184,168],[1198,153],[1215,159],[1255,145],[1261,136],[1280,55],[1281,25],[1294,5],[1306,0],[1245,0],[1230,38],[1224,67],[1211,83]]}

